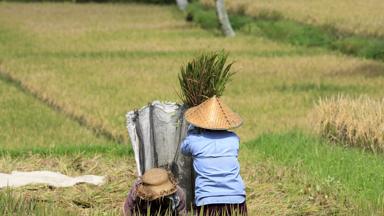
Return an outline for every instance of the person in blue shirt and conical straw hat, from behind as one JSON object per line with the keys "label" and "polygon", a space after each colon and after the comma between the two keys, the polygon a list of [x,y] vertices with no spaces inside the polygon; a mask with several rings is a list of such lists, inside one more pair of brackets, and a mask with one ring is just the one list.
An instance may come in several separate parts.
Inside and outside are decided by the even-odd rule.
{"label": "person in blue shirt and conical straw hat, from behind", "polygon": [[239,137],[228,131],[241,118],[216,96],[185,113],[192,125],[181,145],[192,156],[195,210],[203,215],[247,215],[245,188],[237,159]]}

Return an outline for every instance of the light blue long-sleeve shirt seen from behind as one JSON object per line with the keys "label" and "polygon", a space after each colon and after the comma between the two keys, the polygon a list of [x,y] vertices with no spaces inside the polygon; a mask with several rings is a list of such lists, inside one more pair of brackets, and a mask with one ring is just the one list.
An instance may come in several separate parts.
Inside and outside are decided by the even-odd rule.
{"label": "light blue long-sleeve shirt seen from behind", "polygon": [[233,132],[194,129],[188,132],[181,152],[193,157],[197,206],[245,201],[238,151],[239,137]]}

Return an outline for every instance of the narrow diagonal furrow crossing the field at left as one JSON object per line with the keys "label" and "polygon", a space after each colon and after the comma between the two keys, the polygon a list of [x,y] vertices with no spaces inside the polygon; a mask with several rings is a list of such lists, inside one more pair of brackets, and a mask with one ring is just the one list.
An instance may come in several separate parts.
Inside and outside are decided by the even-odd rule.
{"label": "narrow diagonal furrow crossing the field at left", "polygon": [[31,95],[36,100],[45,104],[55,112],[61,113],[66,118],[69,118],[72,121],[77,122],[81,127],[85,127],[86,129],[90,130],[95,136],[104,137],[118,144],[127,143],[126,139],[124,138],[124,135],[109,131],[108,129],[105,128],[103,124],[92,121],[89,117],[81,113],[72,112],[70,109],[66,108],[64,105],[60,104],[56,100],[50,98],[49,96],[40,94],[39,91],[33,89],[28,84],[23,83],[21,80],[15,78],[11,74],[1,69],[0,69],[0,79],[7,83],[10,83],[14,87],[16,87],[18,90],[22,91],[23,93]]}

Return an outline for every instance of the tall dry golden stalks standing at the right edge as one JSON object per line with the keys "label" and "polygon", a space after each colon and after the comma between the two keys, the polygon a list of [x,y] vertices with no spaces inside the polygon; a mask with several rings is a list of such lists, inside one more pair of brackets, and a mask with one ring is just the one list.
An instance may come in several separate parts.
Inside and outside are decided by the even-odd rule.
{"label": "tall dry golden stalks standing at the right edge", "polygon": [[384,151],[384,99],[320,100],[312,113],[317,132],[334,143]]}

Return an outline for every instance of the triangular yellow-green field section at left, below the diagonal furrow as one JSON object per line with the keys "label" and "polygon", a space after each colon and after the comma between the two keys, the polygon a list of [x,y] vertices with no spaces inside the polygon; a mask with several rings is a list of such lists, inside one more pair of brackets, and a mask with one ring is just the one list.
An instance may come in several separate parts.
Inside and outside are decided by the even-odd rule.
{"label": "triangular yellow-green field section at left, below the diagonal furrow", "polygon": [[106,145],[113,142],[95,135],[55,112],[9,81],[0,80],[0,146],[4,149]]}

